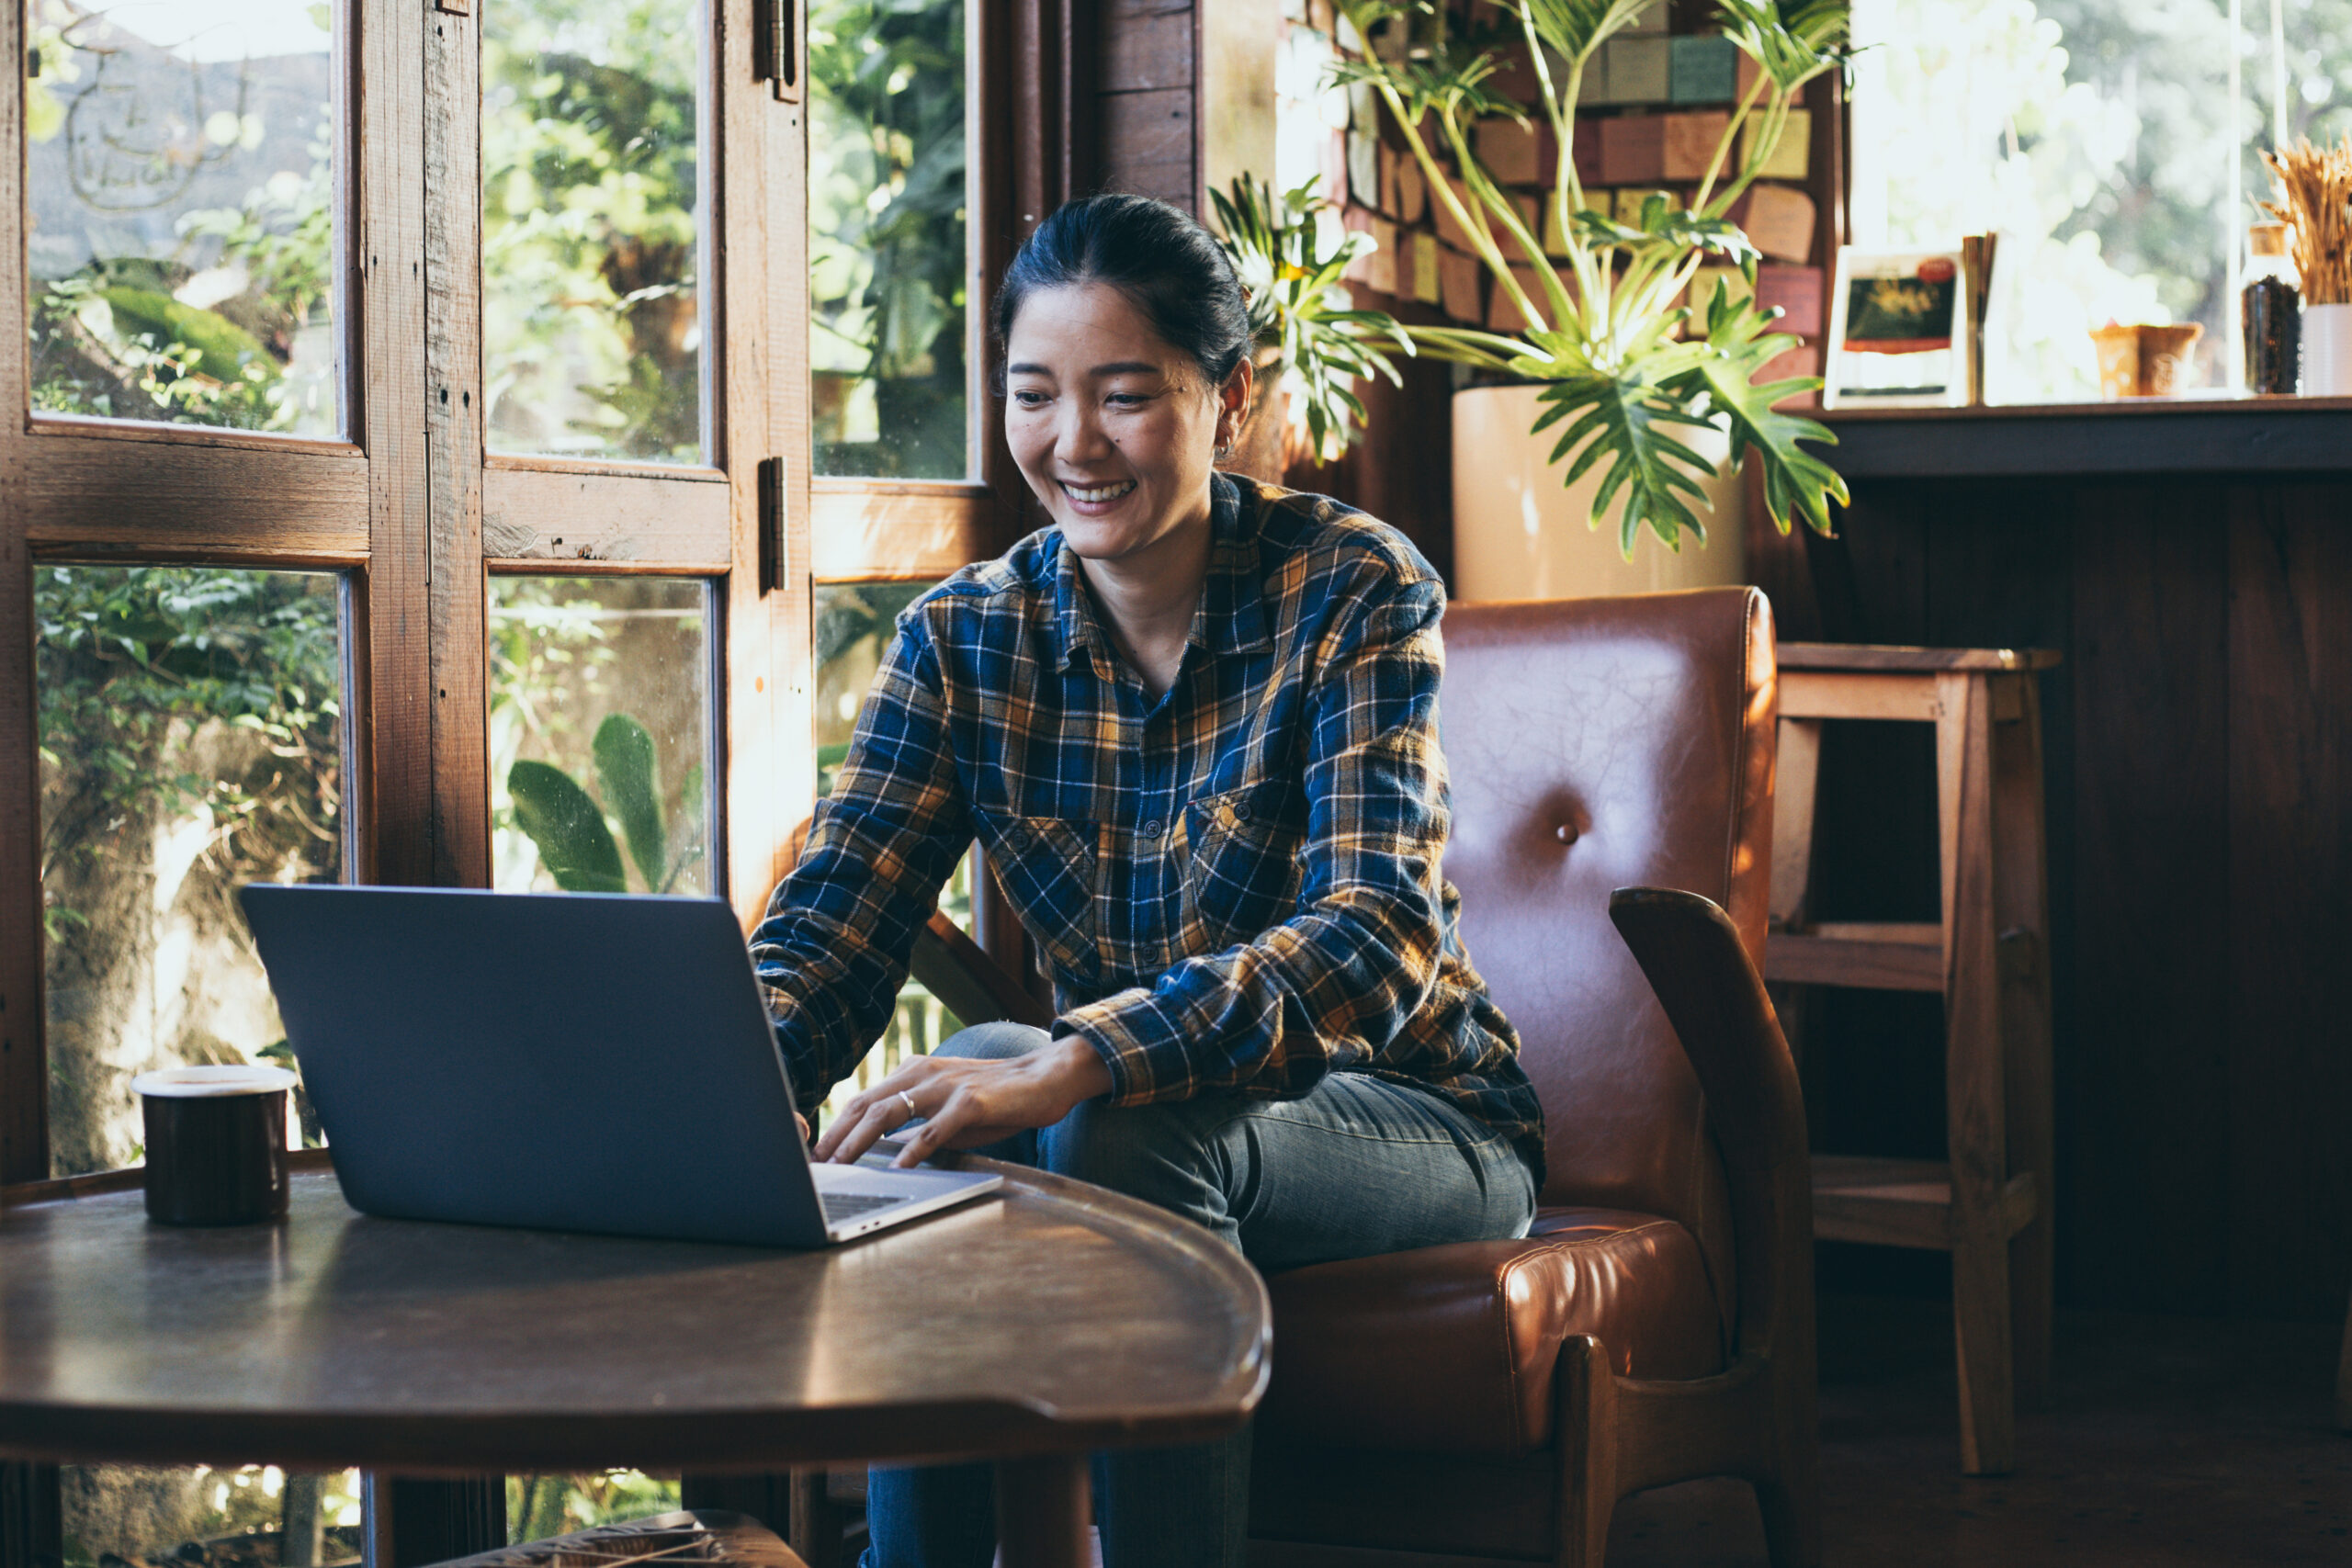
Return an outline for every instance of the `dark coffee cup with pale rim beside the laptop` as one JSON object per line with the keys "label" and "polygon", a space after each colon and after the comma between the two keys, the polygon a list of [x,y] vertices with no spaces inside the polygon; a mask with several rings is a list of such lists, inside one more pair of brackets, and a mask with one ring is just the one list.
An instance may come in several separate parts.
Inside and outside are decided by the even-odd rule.
{"label": "dark coffee cup with pale rim beside the laptop", "polygon": [[148,1218],[261,1225],[287,1218],[285,1067],[167,1067],[132,1079],[146,1112]]}

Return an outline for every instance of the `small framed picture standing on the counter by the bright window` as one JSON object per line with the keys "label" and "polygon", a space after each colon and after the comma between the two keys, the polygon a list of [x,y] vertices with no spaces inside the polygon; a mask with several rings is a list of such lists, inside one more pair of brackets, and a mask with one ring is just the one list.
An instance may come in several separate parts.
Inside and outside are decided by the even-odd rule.
{"label": "small framed picture standing on the counter by the bright window", "polygon": [[1969,402],[1969,292],[1959,252],[1837,252],[1825,409]]}

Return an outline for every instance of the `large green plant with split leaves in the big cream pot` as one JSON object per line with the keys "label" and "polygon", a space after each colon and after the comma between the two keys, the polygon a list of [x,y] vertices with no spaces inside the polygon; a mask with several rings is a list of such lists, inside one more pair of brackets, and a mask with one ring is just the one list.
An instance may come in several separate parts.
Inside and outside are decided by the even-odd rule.
{"label": "large green plant with split leaves in the big cream pot", "polygon": [[[1630,223],[1585,205],[1571,155],[1576,101],[1602,45],[1663,0],[1489,2],[1526,42],[1538,85],[1534,106],[1494,89],[1496,56],[1449,38],[1442,12],[1406,0],[1338,0],[1362,38],[1402,38],[1404,47],[1343,59],[1336,78],[1369,85],[1388,106],[1430,200],[1446,207],[1494,287],[1526,322],[1519,334],[1475,327],[1406,327],[1404,334],[1423,355],[1519,383],[1526,433],[1552,442],[1534,463],[1564,463],[1559,482],[1583,487],[1576,503],[1588,524],[1616,517],[1616,548],[1625,559],[1642,529],[1677,552],[1684,534],[1705,543],[1708,491],[1726,491],[1745,454],[1757,458],[1773,524],[1788,531],[1804,517],[1828,531],[1830,501],[1844,501],[1846,487],[1799,442],[1832,444],[1837,437],[1818,421],[1773,407],[1820,381],[1757,378],[1797,339],[1773,331],[1776,310],[1733,299],[1719,284],[1705,301],[1682,301],[1708,263],[1738,266],[1752,289],[1757,249],[1729,216],[1731,207],[1769,165],[1804,85],[1846,59],[1849,2],[1717,0],[1717,28],[1755,63],[1755,80],[1731,110],[1689,207],[1651,197]],[[1416,21],[1428,26],[1416,28]],[[1519,125],[1534,118],[1559,148],[1536,226],[1548,230],[1550,252],[1472,150],[1470,127],[1484,115]],[[1461,449],[1456,468],[1461,477]],[[1468,522],[1456,517],[1458,538]],[[1531,512],[1524,529],[1519,517],[1501,522],[1534,529]],[[1522,574],[1505,590],[1557,588]],[[1486,592],[1465,585],[1465,597]]]}

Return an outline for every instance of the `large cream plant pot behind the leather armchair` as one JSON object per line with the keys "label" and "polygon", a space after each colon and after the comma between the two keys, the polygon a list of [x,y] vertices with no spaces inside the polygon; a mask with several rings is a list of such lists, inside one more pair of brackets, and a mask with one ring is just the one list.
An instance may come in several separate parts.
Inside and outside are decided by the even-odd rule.
{"label": "large cream plant pot behind the leather armchair", "polygon": [[1632,559],[1618,550],[1623,501],[1592,527],[1599,465],[1562,484],[1552,465],[1559,425],[1529,435],[1543,404],[1536,386],[1477,386],[1454,393],[1454,588],[1458,599],[1585,599],[1668,588],[1745,583],[1740,522],[1745,487],[1724,473],[1729,437],[1677,428],[1675,437],[1717,463],[1708,505],[1693,508],[1708,543],[1684,534],[1668,550],[1642,529]]}

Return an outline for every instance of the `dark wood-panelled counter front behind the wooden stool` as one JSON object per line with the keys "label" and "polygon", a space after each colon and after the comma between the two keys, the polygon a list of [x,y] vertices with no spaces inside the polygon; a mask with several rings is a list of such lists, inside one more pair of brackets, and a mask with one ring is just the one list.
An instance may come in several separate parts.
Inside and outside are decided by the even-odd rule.
{"label": "dark wood-panelled counter front behind the wooden stool", "polygon": [[[2044,677],[2060,1300],[2340,1316],[2352,480],[1853,489],[1839,541],[1750,555],[1783,635],[2065,654]],[[1926,731],[1870,731],[1823,762],[1820,914],[1931,919]],[[1818,997],[1816,1145],[1936,1154],[1938,1053],[1933,999]]]}

